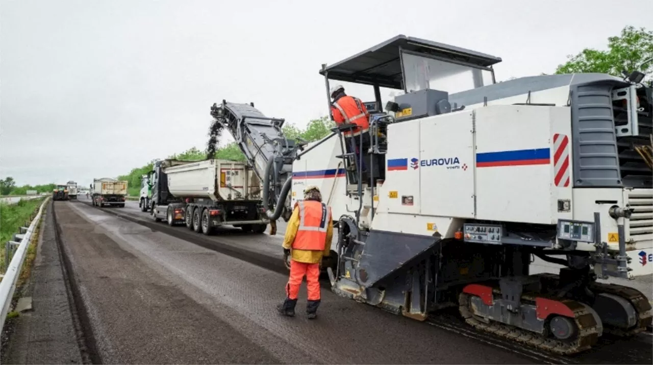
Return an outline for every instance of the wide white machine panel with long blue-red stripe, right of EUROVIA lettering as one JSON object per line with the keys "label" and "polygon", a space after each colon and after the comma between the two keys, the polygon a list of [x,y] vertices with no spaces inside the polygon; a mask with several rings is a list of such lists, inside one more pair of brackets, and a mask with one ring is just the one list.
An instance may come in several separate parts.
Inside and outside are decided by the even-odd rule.
{"label": "wide white machine panel with long blue-red stripe, right of EUROVIA lettering", "polygon": [[476,112],[477,219],[556,223],[552,106],[496,105]]}

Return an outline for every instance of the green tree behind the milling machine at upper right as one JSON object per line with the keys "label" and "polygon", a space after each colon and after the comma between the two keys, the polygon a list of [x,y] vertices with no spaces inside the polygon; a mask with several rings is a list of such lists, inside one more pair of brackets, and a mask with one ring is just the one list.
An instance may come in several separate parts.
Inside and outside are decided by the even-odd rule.
{"label": "green tree behind the milling machine at upper right", "polygon": [[607,50],[585,48],[576,56],[567,56],[568,61],[558,65],[556,74],[576,72],[601,72],[622,76],[622,71],[641,71],[648,77],[653,72],[653,62],[640,67],[641,63],[653,57],[653,31],[633,26],[624,27],[620,36],[608,38]]}

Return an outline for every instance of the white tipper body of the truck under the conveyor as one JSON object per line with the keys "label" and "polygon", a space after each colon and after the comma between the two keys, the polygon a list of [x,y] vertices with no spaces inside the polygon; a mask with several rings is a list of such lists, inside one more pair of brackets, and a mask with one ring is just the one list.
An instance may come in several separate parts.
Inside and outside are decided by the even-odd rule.
{"label": "white tipper body of the truck under the conveyor", "polygon": [[218,200],[259,200],[261,180],[244,163],[229,160],[193,161],[164,169],[168,191],[175,197]]}

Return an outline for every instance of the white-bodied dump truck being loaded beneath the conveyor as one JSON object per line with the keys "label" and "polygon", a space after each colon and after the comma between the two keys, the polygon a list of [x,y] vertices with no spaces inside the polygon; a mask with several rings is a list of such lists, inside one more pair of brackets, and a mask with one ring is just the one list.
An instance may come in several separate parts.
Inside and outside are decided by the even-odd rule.
{"label": "white-bodied dump truck being loaded beneath the conveyor", "polygon": [[151,217],[168,225],[185,224],[210,235],[232,225],[263,233],[267,219],[261,204],[261,180],[245,163],[208,159],[155,161],[150,172]]}

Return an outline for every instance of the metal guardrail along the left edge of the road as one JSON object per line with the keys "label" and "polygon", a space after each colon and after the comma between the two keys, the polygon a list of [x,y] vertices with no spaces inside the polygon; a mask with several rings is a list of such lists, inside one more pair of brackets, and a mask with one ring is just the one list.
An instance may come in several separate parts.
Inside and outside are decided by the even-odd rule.
{"label": "metal guardrail along the left edge of the road", "polygon": [[25,261],[25,256],[27,256],[27,247],[29,242],[32,239],[32,233],[39,223],[40,217],[43,213],[43,208],[45,204],[50,200],[50,197],[46,197],[43,200],[39,213],[37,216],[32,219],[29,223],[29,227],[25,230],[25,233],[22,235],[20,243],[18,243],[18,248],[12,257],[11,262],[7,266],[7,272],[2,281],[0,281],[0,331],[5,326],[5,319],[7,319],[7,313],[9,312],[9,306],[11,305],[11,300],[14,297],[14,291],[16,290],[16,283],[18,283],[18,278],[20,277],[20,270],[23,268],[23,262]]}

